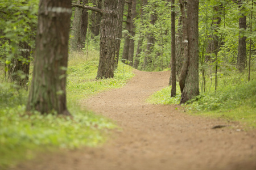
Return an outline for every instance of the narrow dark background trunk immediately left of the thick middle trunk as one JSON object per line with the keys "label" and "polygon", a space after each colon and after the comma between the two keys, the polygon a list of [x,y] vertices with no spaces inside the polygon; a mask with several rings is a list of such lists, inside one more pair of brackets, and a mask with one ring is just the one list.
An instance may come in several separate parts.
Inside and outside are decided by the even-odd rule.
{"label": "narrow dark background trunk immediately left of the thick middle trunk", "polygon": [[[102,3],[102,0],[93,1],[93,5],[99,9],[101,9],[101,3]],[[93,33],[92,38],[100,34],[100,24],[101,24],[101,14],[99,12],[92,11],[92,27],[91,27],[91,31]]]}

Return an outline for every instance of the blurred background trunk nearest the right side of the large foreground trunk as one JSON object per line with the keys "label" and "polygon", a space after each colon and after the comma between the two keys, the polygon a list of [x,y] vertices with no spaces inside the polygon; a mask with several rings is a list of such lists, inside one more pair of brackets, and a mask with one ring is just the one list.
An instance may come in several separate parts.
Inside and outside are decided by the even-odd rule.
{"label": "blurred background trunk nearest the right side of the large foreground trunk", "polygon": [[[79,0],[77,4],[85,5],[88,0]],[[88,25],[88,14],[87,10],[84,8],[76,8],[75,17],[72,24],[72,38],[71,38],[71,48],[73,50],[81,50],[84,48],[84,42],[86,40],[86,32]]]}

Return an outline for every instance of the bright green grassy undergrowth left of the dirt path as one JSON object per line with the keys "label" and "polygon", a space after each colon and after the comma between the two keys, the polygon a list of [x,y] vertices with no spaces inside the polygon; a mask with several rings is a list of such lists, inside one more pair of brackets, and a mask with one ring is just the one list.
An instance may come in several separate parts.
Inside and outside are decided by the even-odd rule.
{"label": "bright green grassy undergrowth left of the dirt path", "polygon": [[[129,66],[119,65],[114,79],[94,80],[98,52],[71,53],[68,67],[68,109],[73,118],[55,114],[27,114],[28,92],[14,84],[0,82],[0,169],[30,159],[45,148],[97,146],[106,140],[108,129],[117,128],[111,120],[81,109],[78,103],[86,97],[109,88],[121,87],[133,74]],[[1,69],[3,70],[3,69]]]}

